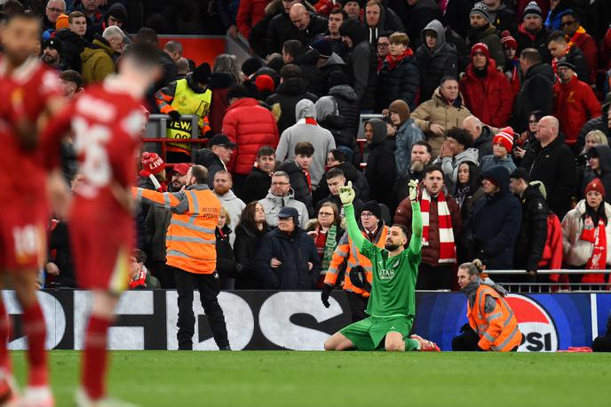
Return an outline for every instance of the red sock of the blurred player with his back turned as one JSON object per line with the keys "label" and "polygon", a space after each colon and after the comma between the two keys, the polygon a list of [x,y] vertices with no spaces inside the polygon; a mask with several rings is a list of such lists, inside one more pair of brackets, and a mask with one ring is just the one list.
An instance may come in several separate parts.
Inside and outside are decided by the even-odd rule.
{"label": "red sock of the blurred player with his back turned", "polygon": [[85,392],[92,400],[98,400],[106,393],[104,381],[108,366],[106,347],[109,326],[109,320],[91,315],[87,327],[81,378]]}

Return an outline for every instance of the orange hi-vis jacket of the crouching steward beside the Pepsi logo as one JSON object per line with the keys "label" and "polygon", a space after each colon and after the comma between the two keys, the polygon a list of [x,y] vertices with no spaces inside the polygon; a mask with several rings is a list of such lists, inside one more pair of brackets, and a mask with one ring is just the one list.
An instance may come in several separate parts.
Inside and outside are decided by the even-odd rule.
{"label": "orange hi-vis jacket of the crouching steward beside the Pepsi logo", "polygon": [[[488,313],[485,310],[487,296],[496,302],[496,307]],[[512,308],[501,294],[488,285],[481,284],[477,289],[473,307],[467,300],[467,318],[473,331],[480,336],[478,346],[481,349],[509,352],[520,346],[522,332]]]}

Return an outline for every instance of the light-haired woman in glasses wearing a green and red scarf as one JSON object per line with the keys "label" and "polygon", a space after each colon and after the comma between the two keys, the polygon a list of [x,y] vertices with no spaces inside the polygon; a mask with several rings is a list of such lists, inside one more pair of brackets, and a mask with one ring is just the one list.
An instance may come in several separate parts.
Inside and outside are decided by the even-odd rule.
{"label": "light-haired woman in glasses wearing a green and red scarf", "polygon": [[305,231],[314,239],[318,257],[321,258],[321,278],[319,279],[317,288],[322,287],[324,281],[324,273],[329,269],[333,252],[339,243],[339,239],[344,235],[344,227],[341,227],[341,217],[337,205],[332,202],[321,204],[318,209],[316,219],[312,219],[307,223]]}

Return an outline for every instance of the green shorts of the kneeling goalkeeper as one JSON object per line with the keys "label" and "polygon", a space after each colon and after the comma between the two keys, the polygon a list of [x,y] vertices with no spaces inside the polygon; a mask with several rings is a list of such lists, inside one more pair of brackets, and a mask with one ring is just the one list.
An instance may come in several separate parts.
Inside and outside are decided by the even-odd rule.
{"label": "green shorts of the kneeling goalkeeper", "polygon": [[339,332],[350,339],[358,350],[376,350],[384,349],[383,339],[388,332],[399,332],[403,335],[403,339],[407,339],[412,323],[414,319],[405,316],[394,318],[369,316],[359,322],[351,323]]}

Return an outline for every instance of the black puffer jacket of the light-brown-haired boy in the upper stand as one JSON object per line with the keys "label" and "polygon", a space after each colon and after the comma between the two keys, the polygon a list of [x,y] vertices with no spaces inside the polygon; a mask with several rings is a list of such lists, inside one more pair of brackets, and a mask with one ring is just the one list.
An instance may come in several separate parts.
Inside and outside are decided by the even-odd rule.
{"label": "black puffer jacket of the light-brown-haired boy in the upper stand", "polygon": [[[408,49],[409,50],[409,49]],[[410,109],[416,108],[420,74],[411,50],[393,68],[388,60],[377,76],[377,111],[381,112],[394,100],[403,100]]]}

